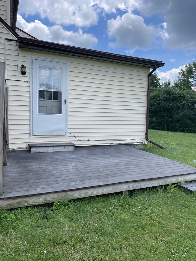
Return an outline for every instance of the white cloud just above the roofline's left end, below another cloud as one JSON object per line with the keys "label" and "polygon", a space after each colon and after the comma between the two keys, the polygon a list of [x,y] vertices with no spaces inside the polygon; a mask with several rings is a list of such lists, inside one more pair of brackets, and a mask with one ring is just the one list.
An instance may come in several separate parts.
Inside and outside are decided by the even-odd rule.
{"label": "white cloud just above the roofline's left end, below another cloud", "polygon": [[60,25],[47,27],[38,20],[27,23],[20,15],[17,15],[17,26],[36,38],[49,42],[93,48],[98,41],[92,34],[83,33],[80,29],[75,33],[64,30]]}

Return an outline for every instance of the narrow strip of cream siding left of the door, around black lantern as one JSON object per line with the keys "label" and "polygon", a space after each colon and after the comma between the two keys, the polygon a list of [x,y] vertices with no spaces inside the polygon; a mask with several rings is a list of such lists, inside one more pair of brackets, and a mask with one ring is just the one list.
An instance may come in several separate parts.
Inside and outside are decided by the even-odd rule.
{"label": "narrow strip of cream siding left of the door, around black lantern", "polygon": [[[6,49],[10,148],[23,148],[27,147],[30,139],[29,54],[18,48],[18,55],[16,42],[7,41]],[[22,64],[27,67],[25,76],[21,75]]]}

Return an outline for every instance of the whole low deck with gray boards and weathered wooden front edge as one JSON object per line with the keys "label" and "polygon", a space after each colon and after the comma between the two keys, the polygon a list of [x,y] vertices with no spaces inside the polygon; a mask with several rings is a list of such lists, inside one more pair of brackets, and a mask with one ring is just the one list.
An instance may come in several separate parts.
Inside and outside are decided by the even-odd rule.
{"label": "whole low deck with gray boards and weathered wooden front edge", "polygon": [[126,145],[11,151],[0,209],[196,179],[196,168]]}

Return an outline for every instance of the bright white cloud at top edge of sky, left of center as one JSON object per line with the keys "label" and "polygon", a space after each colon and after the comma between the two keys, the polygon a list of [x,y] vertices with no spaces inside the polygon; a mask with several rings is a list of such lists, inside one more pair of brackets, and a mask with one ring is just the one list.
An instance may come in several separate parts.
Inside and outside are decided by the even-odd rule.
{"label": "bright white cloud at top edge of sky, left of center", "polygon": [[97,24],[98,15],[90,0],[26,0],[19,2],[18,14],[39,14],[55,24],[88,27]]}

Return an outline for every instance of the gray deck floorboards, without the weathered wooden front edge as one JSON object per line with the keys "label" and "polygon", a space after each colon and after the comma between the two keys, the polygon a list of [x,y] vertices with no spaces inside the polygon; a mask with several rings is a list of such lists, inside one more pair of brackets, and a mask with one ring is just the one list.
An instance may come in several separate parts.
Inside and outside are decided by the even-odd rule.
{"label": "gray deck floorboards, without the weathered wooden front edge", "polygon": [[12,151],[0,199],[196,173],[196,168],[126,145],[75,151]]}

